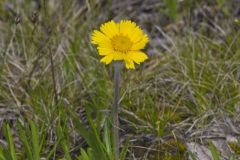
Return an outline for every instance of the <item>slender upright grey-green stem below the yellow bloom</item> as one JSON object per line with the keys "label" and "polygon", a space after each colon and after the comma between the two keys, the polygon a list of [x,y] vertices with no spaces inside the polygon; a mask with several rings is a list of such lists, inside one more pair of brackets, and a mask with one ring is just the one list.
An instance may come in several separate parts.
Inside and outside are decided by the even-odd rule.
{"label": "slender upright grey-green stem below the yellow bloom", "polygon": [[119,82],[120,82],[120,62],[114,64],[114,104],[112,108],[113,114],[113,139],[115,148],[115,160],[119,160],[119,120],[118,120],[118,108],[119,108]]}

